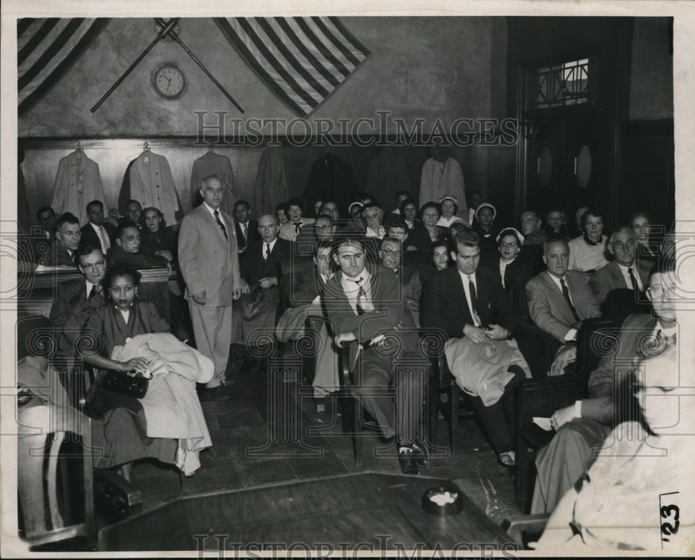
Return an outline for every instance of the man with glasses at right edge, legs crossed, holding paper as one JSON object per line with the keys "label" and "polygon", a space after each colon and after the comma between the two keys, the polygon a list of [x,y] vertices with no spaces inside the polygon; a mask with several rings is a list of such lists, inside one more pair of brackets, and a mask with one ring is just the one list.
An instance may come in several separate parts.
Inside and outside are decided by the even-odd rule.
{"label": "man with glasses at right edge, legs crossed, holding paper", "polygon": [[550,418],[557,431],[536,457],[537,479],[531,513],[553,511],[566,491],[594,462],[600,447],[616,425],[615,388],[639,361],[677,348],[675,261],[653,267],[646,295],[651,315],[630,315],[619,333],[616,354],[604,356],[589,376],[589,398],[559,409]]}

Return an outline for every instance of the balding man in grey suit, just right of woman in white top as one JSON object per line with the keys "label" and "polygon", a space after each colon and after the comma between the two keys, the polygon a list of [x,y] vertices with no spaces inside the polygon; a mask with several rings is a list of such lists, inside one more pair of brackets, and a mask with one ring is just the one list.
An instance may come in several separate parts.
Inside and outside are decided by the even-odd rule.
{"label": "balding man in grey suit, just right of woman in white top", "polygon": [[635,263],[636,247],[635,233],[629,226],[619,227],[612,233],[608,252],[614,256],[614,261],[596,270],[589,278],[589,286],[598,303],[603,304],[611,290],[627,288],[635,295],[644,293],[649,271],[644,265],[639,267]]}

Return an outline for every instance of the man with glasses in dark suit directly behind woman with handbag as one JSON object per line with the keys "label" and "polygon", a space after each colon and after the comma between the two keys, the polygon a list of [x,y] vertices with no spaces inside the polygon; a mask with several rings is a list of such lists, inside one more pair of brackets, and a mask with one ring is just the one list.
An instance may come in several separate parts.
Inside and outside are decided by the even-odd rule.
{"label": "man with glasses in dark suit directly behind woman with handbag", "polygon": [[101,281],[106,261],[99,247],[83,247],[77,252],[79,271],[84,278],[58,284],[49,319],[53,323],[58,354],[74,356],[74,340],[95,308],[106,304]]}

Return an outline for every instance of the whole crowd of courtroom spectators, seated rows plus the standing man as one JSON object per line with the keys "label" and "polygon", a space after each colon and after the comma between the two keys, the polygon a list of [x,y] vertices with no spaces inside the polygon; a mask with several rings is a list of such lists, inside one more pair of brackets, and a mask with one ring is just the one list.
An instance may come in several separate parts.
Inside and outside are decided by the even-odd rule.
{"label": "whole crowd of courtroom spectators, seated rows plus the standing man", "polygon": [[[113,354],[126,339],[170,331],[152,304],[138,301],[140,276],[133,269],[178,267],[184,290],[170,294],[178,302],[170,314],[180,331],[172,331],[177,336],[171,338],[195,344],[201,354],[196,359],[207,359],[209,374],[187,379],[215,400],[233,394],[234,377],[227,368],[231,344],[260,344],[257,333],[269,329],[281,343],[297,340],[304,336],[307,317],[325,318],[313,372],[318,409],[338,390],[338,355],[341,346],[350,345],[352,394],[382,436],[395,438],[402,472],[419,473],[429,452],[423,380],[394,379],[393,361],[427,361],[424,333],[436,331],[445,339],[452,375],[468,394],[498,461],[513,468],[514,390],[532,374],[571,371],[586,320],[610,316],[617,326],[625,320],[650,332],[670,331],[675,324],[662,303],[672,268],[664,268],[659,256],[668,248],[650,235],[651,220],[644,212],[608,235],[598,208],[579,208],[569,225],[557,208],[545,220],[525,210],[518,224],[496,224],[496,208],[480,192],[471,192],[467,201],[444,196],[418,208],[402,191],[391,209],[363,193],[345,209],[332,200],[316,201],[307,212],[313,217],[304,213],[306,201],[290,199],[275,213],[252,219],[243,200],[234,204],[234,216],[219,209],[222,189],[216,177],[206,178],[200,192],[203,204],[172,226],[157,208],[142,208],[138,201],[128,202],[123,217],[117,212],[105,217],[94,201],[83,225],[72,214],[56,219],[49,207],[38,211],[44,241],[40,262],[77,267],[85,278],[58,290],[51,320],[59,351],[99,370],[152,373],[151,356],[125,359],[131,355],[126,353],[119,360]],[[535,326],[557,340],[547,371],[531,372],[516,343],[521,317],[510,297],[512,286],[525,295]],[[650,302],[657,318],[648,313]],[[646,314],[635,319],[635,313]],[[183,315],[192,332],[183,327]],[[101,354],[74,349],[74,338],[85,328],[104,338]],[[393,340],[396,349],[390,351]],[[638,346],[621,345],[621,357],[644,358]],[[553,415],[557,434],[538,454],[534,512],[553,511],[591,467],[591,449],[614,427],[612,359],[604,358],[591,372],[587,400]],[[258,368],[250,353],[243,372]],[[100,380],[98,375],[97,389]],[[93,393],[95,409],[106,420],[100,438],[107,453],[99,466],[120,467],[129,477],[136,459],[174,463],[179,457],[181,446],[177,450],[174,439],[152,435],[156,430],[145,417],[158,417],[145,414],[147,405],[123,395],[108,397],[103,390]]]}

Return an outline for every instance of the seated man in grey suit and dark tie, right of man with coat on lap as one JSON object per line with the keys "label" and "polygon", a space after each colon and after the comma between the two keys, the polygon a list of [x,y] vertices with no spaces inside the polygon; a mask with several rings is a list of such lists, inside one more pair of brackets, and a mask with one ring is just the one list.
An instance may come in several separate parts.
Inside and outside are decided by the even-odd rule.
{"label": "seated man in grey suit and dark tie, right of man with coat on lap", "polygon": [[526,284],[528,311],[539,329],[561,343],[576,340],[582,321],[601,314],[589,290],[587,275],[567,270],[569,248],[563,240],[543,245],[543,262],[546,272],[534,276]]}

